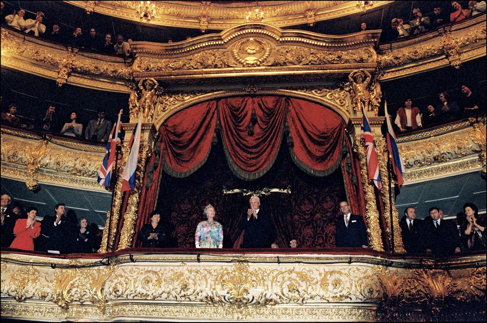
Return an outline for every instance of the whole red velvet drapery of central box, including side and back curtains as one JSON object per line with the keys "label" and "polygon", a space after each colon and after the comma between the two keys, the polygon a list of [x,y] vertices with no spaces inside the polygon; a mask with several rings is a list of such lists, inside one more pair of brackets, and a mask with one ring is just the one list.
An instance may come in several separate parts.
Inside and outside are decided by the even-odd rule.
{"label": "whole red velvet drapery of central box, including side and back curtains", "polygon": [[[175,239],[178,241],[178,246],[190,247],[192,245],[189,240],[194,235],[193,231],[197,222],[202,220],[198,217],[201,216],[204,204],[228,201],[240,203],[239,207],[242,210],[247,207],[248,197],[244,199],[240,197],[239,202],[235,200],[237,198],[235,196],[222,196],[221,183],[229,185],[230,189],[246,187],[255,190],[272,187],[272,185],[280,185],[281,188],[285,188],[285,185],[292,182],[295,186],[297,185],[292,188],[293,194],[291,195],[294,196],[278,194],[269,198],[265,197],[265,199],[269,199],[267,206],[280,210],[273,213],[274,222],[280,233],[278,240],[285,243],[288,238],[302,234],[299,231],[303,231],[306,232],[307,238],[300,240],[306,241],[305,245],[308,247],[332,247],[336,205],[339,200],[346,198],[344,191],[351,190],[353,192],[348,192],[348,194],[357,196],[357,199],[352,198],[350,201],[359,205],[352,205],[352,207],[359,210],[363,208],[363,202],[360,202],[358,192],[360,191],[359,186],[356,185],[356,180],[360,180],[360,172],[357,174],[353,158],[348,163],[353,165],[353,167],[348,167],[349,174],[347,176],[339,175],[338,178],[336,175],[344,172],[345,156],[350,157],[351,146],[346,138],[345,129],[343,119],[331,109],[318,103],[281,96],[227,97],[196,104],[169,117],[160,128],[159,148],[162,166],[154,167],[154,156],[149,159],[148,165],[152,165],[154,173],[152,175],[153,186],[159,180],[155,175],[158,169],[162,167],[164,170],[163,173],[160,172],[162,176],[161,192],[174,191],[173,187],[167,186],[186,185],[188,187],[184,193],[188,194],[187,198],[173,197],[177,198],[177,202],[174,201],[174,203],[178,203],[178,205],[170,205],[170,201],[161,203],[158,201],[157,203],[158,209],[170,210],[162,217],[166,221],[171,221],[176,227]],[[294,169],[288,165],[286,172],[289,174],[277,172],[275,176],[287,177],[291,173],[295,177],[305,176],[299,175],[297,169],[300,169],[301,172],[304,171],[308,174],[306,176],[311,176],[309,179],[295,182],[294,179],[274,180],[266,176],[277,156],[283,154],[282,139],[288,142],[289,146],[286,158],[289,158],[290,155],[294,168],[296,166],[298,168]],[[197,176],[191,176],[191,174],[205,165],[210,151],[213,149],[212,145],[215,145],[217,140],[221,140],[219,147],[231,169],[232,176],[236,178],[227,180],[213,178],[211,174],[217,174],[217,171],[211,170],[212,165],[206,165],[205,169],[208,172],[205,175],[206,178],[200,178],[198,183],[192,182]],[[218,164],[216,160],[212,163],[215,166]],[[222,166],[220,165],[220,167]],[[331,174],[335,174],[331,178],[333,183],[337,182],[336,187],[325,180],[320,180]],[[262,182],[262,179],[265,181]],[[217,183],[218,181],[220,183]],[[319,188],[306,188],[311,182],[317,182]],[[209,189],[210,186],[213,189]],[[328,188],[329,191],[327,191]],[[211,193],[216,189],[220,192]],[[302,195],[296,190],[303,192],[312,190],[308,192],[312,196]],[[156,188],[144,187],[135,228],[136,234],[144,223],[149,222],[149,213],[155,205],[155,195],[157,195]],[[161,193],[159,198],[161,198]],[[292,200],[293,198],[300,200]],[[295,217],[294,213],[303,207],[307,212],[312,212],[313,207],[309,207],[310,203],[317,209],[326,205],[320,211],[320,223],[313,223],[313,221],[316,222],[316,218],[313,220],[313,217],[307,217],[305,222],[311,222],[304,224],[301,223],[302,219]],[[217,206],[217,213],[219,210],[225,213],[235,213],[232,216],[222,215],[226,216],[226,246],[231,248],[239,234],[237,223],[241,212],[231,211],[231,209],[227,209],[227,206]],[[295,227],[296,221],[301,223],[300,228]],[[318,234],[317,231],[325,233]],[[316,239],[319,237],[322,237],[321,242],[316,243]],[[133,246],[138,246],[135,238]]]}

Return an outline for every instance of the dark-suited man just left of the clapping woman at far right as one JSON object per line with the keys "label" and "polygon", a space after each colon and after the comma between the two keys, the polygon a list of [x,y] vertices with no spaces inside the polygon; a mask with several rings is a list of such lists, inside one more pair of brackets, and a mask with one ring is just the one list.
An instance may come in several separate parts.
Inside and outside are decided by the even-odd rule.
{"label": "dark-suited man just left of the clapping woman at far right", "polygon": [[424,220],[421,228],[421,251],[437,257],[453,256],[461,252],[461,241],[457,225],[452,220],[440,219],[439,209],[429,209],[431,220]]}

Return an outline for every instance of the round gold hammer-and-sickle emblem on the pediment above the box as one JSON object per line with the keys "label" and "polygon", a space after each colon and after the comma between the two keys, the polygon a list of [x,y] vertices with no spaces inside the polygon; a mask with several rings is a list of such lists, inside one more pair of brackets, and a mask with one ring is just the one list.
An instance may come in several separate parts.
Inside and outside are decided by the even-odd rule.
{"label": "round gold hammer-and-sickle emblem on the pediment above the box", "polygon": [[270,53],[270,45],[256,38],[244,39],[232,50],[234,59],[243,66],[260,66],[267,61]]}

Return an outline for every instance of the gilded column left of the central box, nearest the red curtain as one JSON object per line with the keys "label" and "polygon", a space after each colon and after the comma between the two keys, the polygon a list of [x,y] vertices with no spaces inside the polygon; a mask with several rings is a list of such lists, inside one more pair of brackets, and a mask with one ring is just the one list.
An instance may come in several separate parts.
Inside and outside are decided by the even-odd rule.
{"label": "gilded column left of the central box, nearest the red curtain", "polygon": [[139,158],[137,160],[137,176],[135,189],[128,192],[129,200],[127,204],[127,209],[123,214],[123,226],[120,232],[120,241],[118,243],[117,250],[132,247],[132,239],[135,235],[135,221],[137,220],[140,193],[142,187],[142,178],[145,172],[145,165],[147,157],[152,153],[150,145],[143,145],[139,150]]}

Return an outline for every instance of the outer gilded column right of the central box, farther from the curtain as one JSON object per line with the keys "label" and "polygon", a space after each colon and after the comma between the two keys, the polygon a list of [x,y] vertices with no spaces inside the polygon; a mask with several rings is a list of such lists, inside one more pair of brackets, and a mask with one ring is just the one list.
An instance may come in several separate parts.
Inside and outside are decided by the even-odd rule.
{"label": "outer gilded column right of the central box, farther from the curtain", "polygon": [[[377,145],[377,159],[379,161],[379,171],[381,172],[381,180],[382,180],[382,202],[384,203],[384,217],[386,219],[387,229],[386,229],[386,236],[391,243],[393,248],[393,252],[396,253],[405,253],[403,246],[403,240],[401,236],[401,228],[399,227],[399,213],[396,209],[396,205],[394,203],[394,199],[391,198],[391,190],[390,190],[390,181],[391,179],[391,172],[389,172],[389,168],[387,165],[387,153],[389,153],[385,147],[385,139],[384,138],[375,138],[375,142]],[[392,210],[392,218],[391,218],[391,210]],[[393,236],[394,235],[394,236]],[[394,237],[394,239],[393,239]],[[392,243],[394,240],[394,244]]]}

